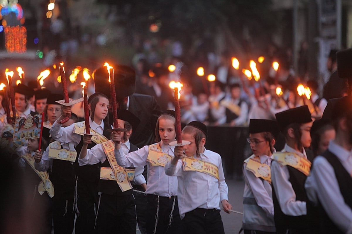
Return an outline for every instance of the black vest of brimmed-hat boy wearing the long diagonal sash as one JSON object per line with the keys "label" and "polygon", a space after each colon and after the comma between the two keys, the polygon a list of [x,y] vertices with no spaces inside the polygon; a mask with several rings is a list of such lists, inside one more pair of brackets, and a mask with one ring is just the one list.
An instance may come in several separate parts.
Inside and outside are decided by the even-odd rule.
{"label": "black vest of brimmed-hat boy wearing the long diagonal sash", "polygon": [[[134,144],[130,144],[129,152],[133,152],[136,150],[138,150],[137,146]],[[110,163],[107,159],[105,160],[105,162],[101,164],[101,167],[111,168]],[[99,171],[99,174],[100,174],[100,171]],[[132,194],[132,189],[122,192],[117,182],[113,180],[99,180],[98,191],[102,193],[110,194],[110,195],[115,194],[117,196],[127,196]]]}

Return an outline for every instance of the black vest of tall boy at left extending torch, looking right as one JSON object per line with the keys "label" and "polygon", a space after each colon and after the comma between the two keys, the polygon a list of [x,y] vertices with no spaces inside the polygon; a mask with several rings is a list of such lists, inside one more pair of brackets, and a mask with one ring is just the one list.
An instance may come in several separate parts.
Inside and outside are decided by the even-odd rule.
{"label": "black vest of tall boy at left extending torch, looking right", "polygon": [[[111,132],[108,132],[107,129],[111,129],[111,125],[104,121],[104,129],[103,129],[103,136],[106,138],[110,139]],[[92,142],[91,144],[88,145],[88,149],[92,149],[96,144]],[[83,146],[83,139],[81,138],[81,142],[77,145],[76,151],[77,151],[77,158],[75,162],[75,172],[78,177],[80,177],[83,180],[86,180],[87,182],[94,182],[98,184],[99,178],[100,178],[100,165],[101,163],[96,163],[93,165],[83,165],[80,166],[78,164],[78,157],[80,155],[81,149]]]}

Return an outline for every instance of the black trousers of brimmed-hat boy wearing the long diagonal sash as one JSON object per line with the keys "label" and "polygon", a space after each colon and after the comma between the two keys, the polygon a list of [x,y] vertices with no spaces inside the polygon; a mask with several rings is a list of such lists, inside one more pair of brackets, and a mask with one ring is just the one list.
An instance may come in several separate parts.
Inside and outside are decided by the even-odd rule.
{"label": "black trousers of brimmed-hat boy wearing the long diagonal sash", "polygon": [[97,217],[98,233],[136,233],[136,208],[131,195],[101,194]]}

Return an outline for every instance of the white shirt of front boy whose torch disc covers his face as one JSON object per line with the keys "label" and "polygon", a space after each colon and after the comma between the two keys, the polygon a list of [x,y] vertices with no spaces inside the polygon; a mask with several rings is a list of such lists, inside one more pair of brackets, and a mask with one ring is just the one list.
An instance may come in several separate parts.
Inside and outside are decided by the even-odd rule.
{"label": "white shirt of front boy whose torch disc covers his face", "polygon": [[[196,157],[195,157],[196,158]],[[225,182],[219,154],[205,150],[200,154],[200,160],[215,164],[219,169],[219,180],[199,171],[183,171],[182,161],[176,165],[171,161],[165,165],[165,173],[178,178],[178,209],[180,217],[196,208],[220,209],[220,202],[228,200],[228,187]],[[176,177],[174,177],[176,178]]]}

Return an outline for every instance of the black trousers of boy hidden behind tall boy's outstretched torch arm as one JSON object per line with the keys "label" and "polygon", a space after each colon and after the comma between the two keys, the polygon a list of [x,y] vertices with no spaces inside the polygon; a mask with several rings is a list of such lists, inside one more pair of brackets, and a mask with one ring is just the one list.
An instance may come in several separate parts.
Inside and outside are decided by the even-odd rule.
{"label": "black trousers of boy hidden behind tall boy's outstretched torch arm", "polygon": [[75,190],[55,185],[55,196],[52,198],[54,233],[72,234],[75,221]]}

